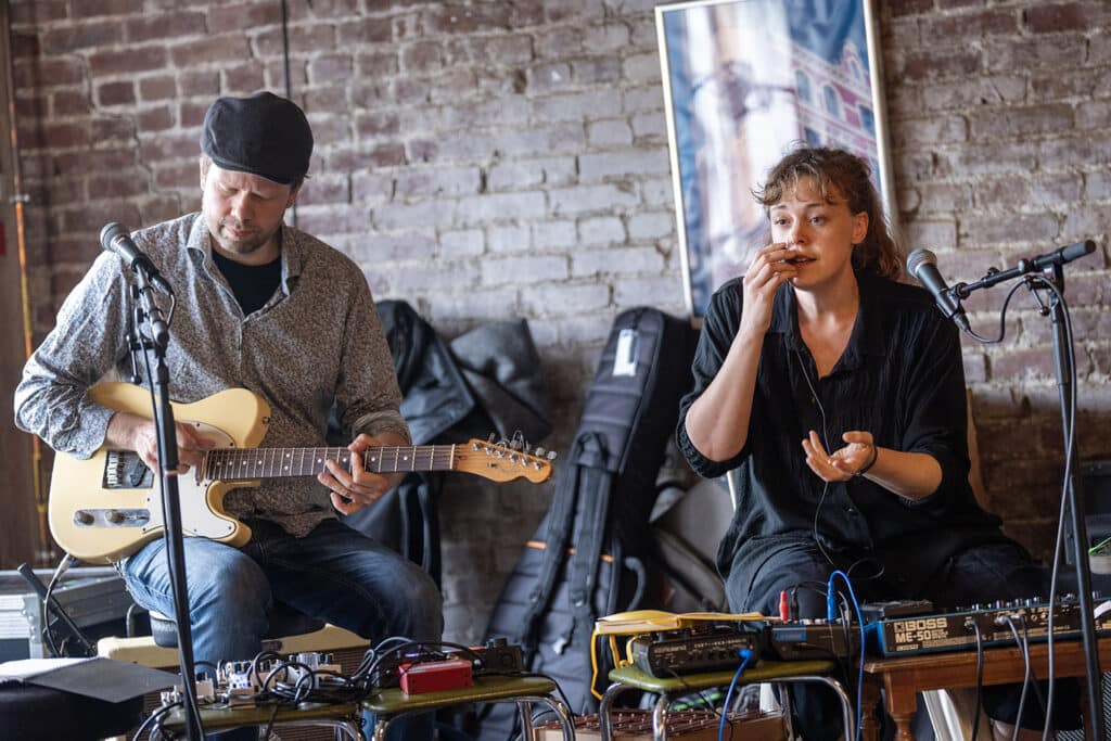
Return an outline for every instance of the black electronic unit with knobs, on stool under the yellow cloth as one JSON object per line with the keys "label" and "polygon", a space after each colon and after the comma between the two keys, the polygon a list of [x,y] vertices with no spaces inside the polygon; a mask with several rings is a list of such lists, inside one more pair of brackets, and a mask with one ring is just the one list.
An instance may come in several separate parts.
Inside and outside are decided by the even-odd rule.
{"label": "black electronic unit with knobs, on stool under the yellow cloth", "polygon": [[734,669],[741,664],[741,649],[759,657],[765,647],[763,623],[720,622],[638,635],[629,658],[641,671],[668,678]]}

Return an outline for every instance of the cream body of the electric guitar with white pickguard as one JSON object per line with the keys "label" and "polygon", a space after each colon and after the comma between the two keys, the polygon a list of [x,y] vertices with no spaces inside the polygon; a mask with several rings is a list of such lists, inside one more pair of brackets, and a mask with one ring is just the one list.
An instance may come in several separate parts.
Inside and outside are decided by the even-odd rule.
{"label": "cream body of the electric guitar with white pickguard", "polygon": [[[101,383],[89,393],[109,409],[152,418],[146,388]],[[270,415],[267,402],[247,389],[227,389],[190,404],[171,405],[174,421],[194,425],[218,448],[257,448]],[[138,463],[133,452],[108,448],[88,460],[66,453],[54,457],[50,531],[68,553],[88,563],[111,563],[162,537],[161,485],[149,472],[141,475],[144,467]],[[191,468],[178,477],[182,532],[242,545],[250,540],[251,530],[224,512],[223,495],[232,488],[258,484],[257,480],[206,480],[198,467]]]}

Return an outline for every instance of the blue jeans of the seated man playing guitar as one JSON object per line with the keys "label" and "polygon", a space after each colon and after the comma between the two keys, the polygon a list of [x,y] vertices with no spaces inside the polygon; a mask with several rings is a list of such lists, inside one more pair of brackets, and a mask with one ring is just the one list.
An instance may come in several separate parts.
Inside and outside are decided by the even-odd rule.
{"label": "blue jeans of the seated man playing guitar", "polygon": [[[251,520],[249,524],[251,540],[241,549],[204,538],[184,539],[197,663],[252,659],[260,650],[274,600],[371,642],[392,635],[440,640],[439,589],[396,551],[334,519],[324,520],[304,538],[294,538],[272,522]],[[161,539],[128,558],[121,571],[136,602],[173,615]],[[419,717],[409,724],[396,723],[390,737],[431,739],[431,725],[430,718]],[[220,739],[240,737],[254,738],[253,729]]]}

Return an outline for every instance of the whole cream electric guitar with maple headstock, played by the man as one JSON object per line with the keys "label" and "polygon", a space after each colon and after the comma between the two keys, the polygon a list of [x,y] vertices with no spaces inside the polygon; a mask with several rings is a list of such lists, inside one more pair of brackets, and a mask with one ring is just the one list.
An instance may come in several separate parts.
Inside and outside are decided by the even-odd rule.
{"label": "whole cream electric guitar with maple headstock, played by the man", "polygon": [[[130,383],[101,383],[90,397],[109,409],[151,418],[150,393]],[[257,487],[261,479],[316,475],[324,461],[350,468],[347,448],[257,448],[267,431],[270,407],[247,389],[228,389],[190,404],[171,402],[174,421],[191,424],[216,448],[204,462],[178,478],[182,532],[242,545],[251,529],[223,510],[230,489]],[[510,481],[533,483],[552,474],[543,452],[530,454],[507,444],[470,440],[453,445],[371,448],[363,465],[376,473],[397,471],[462,471]],[[549,453],[549,457],[552,454]],[[50,531],[68,553],[89,563],[111,563],[160,538],[162,518],[160,482],[132,451],[101,448],[80,460],[66,453],[54,457],[50,482]]]}

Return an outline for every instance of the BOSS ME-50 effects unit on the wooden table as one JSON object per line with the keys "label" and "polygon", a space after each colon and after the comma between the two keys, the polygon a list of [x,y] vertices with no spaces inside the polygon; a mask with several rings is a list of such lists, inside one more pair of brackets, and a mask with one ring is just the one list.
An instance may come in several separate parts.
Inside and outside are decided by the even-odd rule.
{"label": "BOSS ME-50 effects unit on the wooden table", "polygon": [[[900,615],[880,619],[867,625],[869,648],[884,657],[913,655],[960,651],[980,644],[1013,645],[1014,633],[1008,624],[1013,620],[1019,635],[1031,642],[1042,642],[1049,637],[1051,605],[1038,599],[997,601],[973,604],[952,612],[919,615]],[[1075,598],[1064,598],[1052,605],[1053,640],[1081,637],[1080,605]],[[1095,619],[1095,630],[1101,635],[1111,633],[1111,611]]]}

